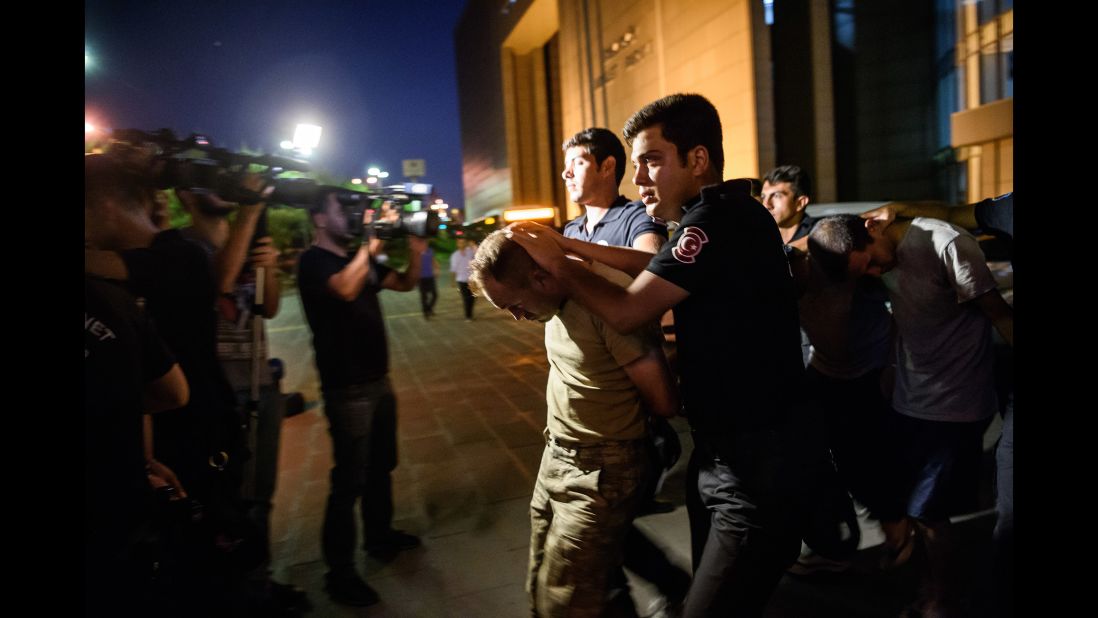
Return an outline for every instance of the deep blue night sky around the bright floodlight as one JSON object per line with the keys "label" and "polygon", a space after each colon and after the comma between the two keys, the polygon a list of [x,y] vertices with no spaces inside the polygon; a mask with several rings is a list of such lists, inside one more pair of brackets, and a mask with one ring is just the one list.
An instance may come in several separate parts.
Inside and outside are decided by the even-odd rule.
{"label": "deep blue night sky around the bright floodlight", "polygon": [[314,168],[348,180],[378,166],[400,182],[402,159],[426,159],[422,181],[460,205],[452,34],[464,3],[88,0],[85,115],[266,153],[318,124]]}

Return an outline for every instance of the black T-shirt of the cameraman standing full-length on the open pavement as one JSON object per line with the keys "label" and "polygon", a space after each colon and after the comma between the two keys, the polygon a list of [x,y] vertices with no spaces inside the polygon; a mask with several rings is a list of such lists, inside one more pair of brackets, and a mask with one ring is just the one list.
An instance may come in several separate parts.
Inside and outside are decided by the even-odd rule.
{"label": "black T-shirt of the cameraman standing full-length on the open pavement", "polygon": [[348,302],[328,290],[328,278],[350,261],[350,257],[311,247],[298,262],[301,304],[313,332],[321,386],[326,391],[365,384],[389,373],[389,345],[378,292],[391,269],[371,257],[366,285]]}

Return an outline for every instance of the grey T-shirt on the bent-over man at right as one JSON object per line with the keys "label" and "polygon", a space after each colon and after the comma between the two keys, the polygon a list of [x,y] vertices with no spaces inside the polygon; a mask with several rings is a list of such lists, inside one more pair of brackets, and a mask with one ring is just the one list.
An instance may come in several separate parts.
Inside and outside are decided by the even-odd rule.
{"label": "grey T-shirt on the bent-over man at right", "polygon": [[972,301],[995,290],[976,238],[916,218],[885,273],[898,338],[893,407],[929,420],[974,422],[995,413],[991,322]]}

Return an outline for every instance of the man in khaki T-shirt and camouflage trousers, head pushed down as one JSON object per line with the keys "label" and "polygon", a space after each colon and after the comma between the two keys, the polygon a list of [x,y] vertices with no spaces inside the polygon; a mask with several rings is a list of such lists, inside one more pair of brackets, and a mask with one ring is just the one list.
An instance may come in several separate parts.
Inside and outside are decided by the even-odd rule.
{"label": "man in khaki T-shirt and camouflage trousers, head pushed down", "polygon": [[[598,263],[594,272],[628,284]],[[651,473],[649,412],[672,416],[679,397],[651,328],[620,335],[576,303],[525,249],[495,232],[481,244],[470,284],[515,319],[546,323],[546,450],[530,503],[527,592],[537,616],[602,616],[607,580]],[[630,604],[627,598],[615,602]]]}

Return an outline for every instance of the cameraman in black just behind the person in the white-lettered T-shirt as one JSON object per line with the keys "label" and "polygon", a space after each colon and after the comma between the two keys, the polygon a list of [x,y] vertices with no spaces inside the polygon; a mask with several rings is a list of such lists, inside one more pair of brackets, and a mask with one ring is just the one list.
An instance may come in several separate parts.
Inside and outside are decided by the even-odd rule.
{"label": "cameraman in black just behind the person in the white-lettered T-shirt", "polygon": [[157,161],[131,155],[123,148],[86,159],[86,187],[105,173],[97,167],[102,161],[141,177],[146,190],[86,198],[85,272],[123,281],[144,299],[190,386],[186,405],[153,419],[155,459],[147,457],[158,469],[158,461],[167,464],[189,496],[186,520],[166,513],[157,523],[157,577],[179,597],[175,609],[180,614],[209,615],[245,603],[240,575],[259,563],[264,548],[242,524],[240,464],[247,452],[232,387],[217,361],[217,286],[209,260],[178,229],[156,226]]}

